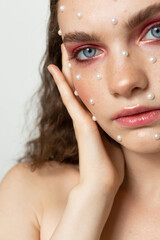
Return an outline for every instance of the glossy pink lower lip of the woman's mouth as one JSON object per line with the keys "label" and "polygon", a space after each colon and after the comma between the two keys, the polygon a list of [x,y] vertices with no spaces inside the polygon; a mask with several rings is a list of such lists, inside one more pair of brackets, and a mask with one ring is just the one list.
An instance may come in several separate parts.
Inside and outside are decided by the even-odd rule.
{"label": "glossy pink lower lip of the woman's mouth", "polygon": [[160,118],[160,110],[140,113],[128,117],[120,117],[116,122],[126,127],[139,127],[150,124]]}

